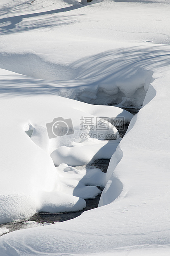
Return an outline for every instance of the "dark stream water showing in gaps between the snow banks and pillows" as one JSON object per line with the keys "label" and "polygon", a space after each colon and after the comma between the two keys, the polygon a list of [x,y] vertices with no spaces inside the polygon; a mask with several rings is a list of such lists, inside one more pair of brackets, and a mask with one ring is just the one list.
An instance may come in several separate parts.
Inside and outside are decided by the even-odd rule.
{"label": "dark stream water showing in gaps between the snow banks and pillows", "polygon": [[[133,115],[137,114],[137,112],[139,111],[139,109],[136,108],[125,108],[125,110],[129,111],[130,113],[132,113]],[[123,137],[127,131],[128,128],[128,124],[125,124],[123,129],[121,128],[121,137]],[[118,129],[119,130],[119,129]],[[109,166],[109,161],[110,159],[98,159],[95,160],[93,164],[91,164],[89,167],[92,168],[99,168],[101,169],[104,173],[106,173],[107,168]],[[88,167],[88,166],[87,166]],[[98,187],[99,190],[104,189],[104,187]],[[69,213],[47,213],[47,212],[40,212],[40,213],[36,213],[34,216],[32,216],[29,220],[27,221],[20,221],[20,222],[16,222],[16,223],[6,223],[6,224],[1,224],[0,228],[7,228],[9,230],[9,232],[12,232],[14,230],[19,230],[19,229],[24,229],[24,228],[30,228],[33,227],[33,225],[31,225],[30,223],[34,222],[37,223],[39,225],[44,225],[45,223],[55,223],[55,222],[62,222],[62,221],[66,221],[66,220],[70,220],[73,218],[76,218],[78,216],[81,215],[81,213],[83,213],[84,211],[88,211],[90,209],[94,209],[97,208],[98,204],[99,204],[99,199],[101,196],[101,193],[97,195],[97,197],[95,197],[94,199],[87,199],[86,201],[86,207],[85,209],[81,210],[81,211],[77,211],[77,212],[69,212]],[[36,226],[36,224],[34,224]],[[5,235],[1,234],[0,235]]]}

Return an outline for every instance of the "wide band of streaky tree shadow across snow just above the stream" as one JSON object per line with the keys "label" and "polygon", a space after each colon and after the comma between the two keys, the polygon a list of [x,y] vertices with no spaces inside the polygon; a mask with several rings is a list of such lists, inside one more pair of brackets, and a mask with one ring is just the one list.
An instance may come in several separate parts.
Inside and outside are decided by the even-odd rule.
{"label": "wide band of streaky tree shadow across snow just above the stream", "polygon": [[[36,71],[38,68],[33,66],[34,62],[30,61],[30,57],[28,61],[26,61],[25,57],[21,63],[20,58],[14,58],[18,62],[16,65],[12,63],[10,55],[9,58],[5,55],[3,58],[0,57],[0,59],[2,60],[0,68],[18,73],[23,69],[24,65],[26,66],[23,69],[25,72],[27,70],[29,72],[30,69]],[[112,88],[112,86],[114,87],[119,83],[124,83],[128,91],[128,81],[131,84],[133,79],[135,83],[141,85],[142,81],[147,78],[148,83],[151,83],[152,70],[168,68],[169,64],[170,52],[169,47],[166,45],[122,48],[80,59],[70,65],[74,73],[71,74],[73,76],[71,80],[50,80],[52,72],[56,73],[59,66],[54,63],[51,69],[50,66],[47,69],[46,62],[44,62],[41,65],[41,73],[49,71],[49,78],[47,78],[49,80],[46,81],[40,77],[37,77],[37,79],[28,77],[31,76],[30,73],[24,73],[26,76],[17,74],[12,74],[11,76],[3,75],[0,85],[0,96],[61,95],[60,93],[65,90],[67,94],[64,97],[76,98],[83,91],[84,95],[86,92],[91,92],[91,96],[94,97],[99,90],[98,85],[102,85],[102,88],[104,88],[105,85],[109,84]],[[70,66],[68,66],[68,69],[70,69]],[[48,73],[46,75],[48,76]],[[36,72],[34,77],[36,77]],[[130,80],[128,80],[129,78]],[[83,90],[82,86],[84,86]],[[74,91],[72,95],[71,90],[72,92]],[[113,96],[108,94],[108,97]]]}

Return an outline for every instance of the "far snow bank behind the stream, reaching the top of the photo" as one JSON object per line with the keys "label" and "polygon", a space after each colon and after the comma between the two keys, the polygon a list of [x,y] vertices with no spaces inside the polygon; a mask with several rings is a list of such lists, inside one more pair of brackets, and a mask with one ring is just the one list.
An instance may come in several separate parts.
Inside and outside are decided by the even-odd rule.
{"label": "far snow bank behind the stream, reaching the top of the photo", "polygon": [[159,63],[162,50],[166,55],[166,47],[160,50],[154,44],[169,43],[164,22],[169,12],[161,4],[167,1],[143,3],[139,9],[139,3],[109,0],[88,6],[71,0],[36,0],[32,5],[20,3],[20,14],[16,3],[10,2],[12,8],[9,2],[7,8],[16,16],[3,14],[0,20],[5,34],[0,67],[31,77],[18,76],[8,84],[5,79],[3,92],[8,94],[7,86],[12,86],[16,95],[45,92],[90,104],[142,106],[153,81],[151,66]]}

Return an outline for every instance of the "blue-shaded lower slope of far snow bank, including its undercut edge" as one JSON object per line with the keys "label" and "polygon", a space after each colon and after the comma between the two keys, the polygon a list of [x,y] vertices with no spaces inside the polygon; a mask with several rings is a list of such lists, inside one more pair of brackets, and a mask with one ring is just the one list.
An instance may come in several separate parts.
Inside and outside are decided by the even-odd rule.
{"label": "blue-shaded lower slope of far snow bank, including its undercut edge", "polygon": [[[141,51],[141,56],[134,65],[137,50]],[[64,67],[59,63],[48,61],[46,56],[32,52],[24,51],[21,54],[0,52],[0,66],[26,75],[26,77],[19,75],[16,81],[11,81],[10,85],[15,94],[18,91],[26,95],[33,91],[43,94],[45,91],[90,104],[121,103],[120,107],[142,106],[149,84],[153,81],[153,72],[147,67],[153,64],[153,59],[156,61],[154,56],[149,59],[147,65],[144,63],[144,58],[149,52],[150,49],[143,47],[112,50],[80,59]],[[128,66],[124,58],[129,62]],[[124,72],[120,71],[120,66]],[[56,79],[57,81],[52,81]]]}

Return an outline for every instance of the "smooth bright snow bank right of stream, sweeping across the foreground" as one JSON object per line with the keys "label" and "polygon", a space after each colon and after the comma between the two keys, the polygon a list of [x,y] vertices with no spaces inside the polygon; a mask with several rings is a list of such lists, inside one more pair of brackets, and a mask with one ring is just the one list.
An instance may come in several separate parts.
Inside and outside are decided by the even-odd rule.
{"label": "smooth bright snow bank right of stream, sweeping across the foreground", "polygon": [[[81,255],[82,251],[85,255],[168,254],[170,142],[169,130],[158,130],[160,122],[168,127],[165,106],[169,104],[170,76],[166,68],[161,77],[159,74],[155,72],[157,79],[144,107],[113,154],[100,201],[103,206],[63,223],[4,235],[0,238],[2,255],[11,255],[13,248],[22,256],[35,251],[36,255]],[[117,199],[116,179],[123,185]]]}

